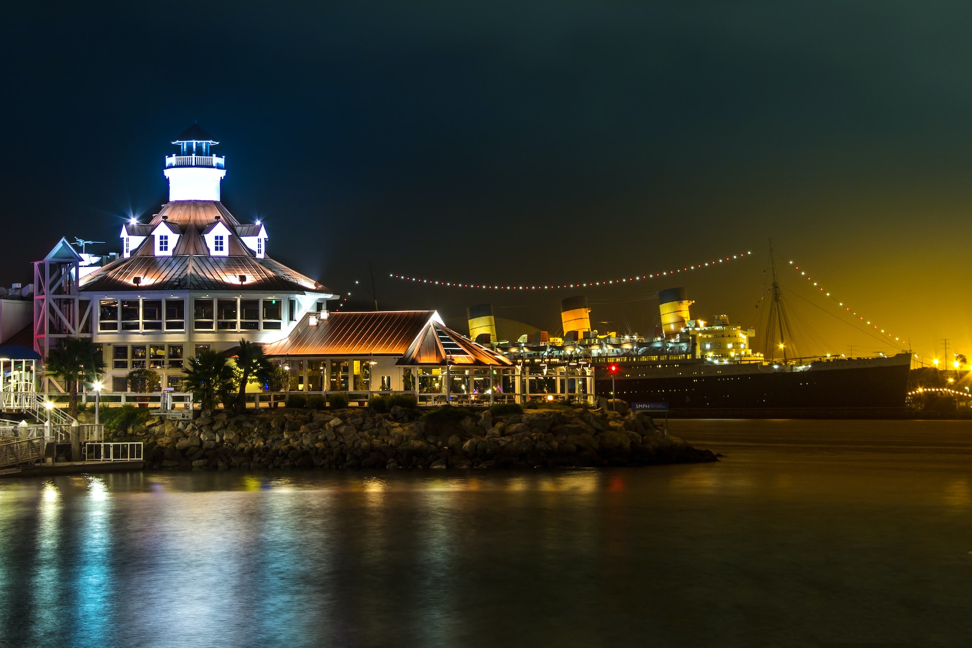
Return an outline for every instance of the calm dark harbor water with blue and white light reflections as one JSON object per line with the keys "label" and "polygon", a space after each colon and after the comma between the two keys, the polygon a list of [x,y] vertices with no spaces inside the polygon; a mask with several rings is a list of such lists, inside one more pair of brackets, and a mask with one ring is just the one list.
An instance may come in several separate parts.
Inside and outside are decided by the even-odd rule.
{"label": "calm dark harbor water with blue and white light reflections", "polygon": [[972,645],[972,422],[672,426],[726,457],[0,481],[0,645]]}

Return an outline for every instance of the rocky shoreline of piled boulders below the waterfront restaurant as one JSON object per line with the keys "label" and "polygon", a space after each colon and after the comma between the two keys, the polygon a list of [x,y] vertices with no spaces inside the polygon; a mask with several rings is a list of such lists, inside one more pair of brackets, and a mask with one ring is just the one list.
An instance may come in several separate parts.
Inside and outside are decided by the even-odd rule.
{"label": "rocky shoreline of piled boulders below the waterfront restaurant", "polygon": [[[530,468],[642,466],[716,460],[642,413],[527,409],[505,415],[442,408],[423,415],[393,407],[279,409],[236,415],[203,411],[194,421],[156,417],[106,432],[141,441],[160,470],[313,468]],[[621,411],[625,411],[624,414]]]}

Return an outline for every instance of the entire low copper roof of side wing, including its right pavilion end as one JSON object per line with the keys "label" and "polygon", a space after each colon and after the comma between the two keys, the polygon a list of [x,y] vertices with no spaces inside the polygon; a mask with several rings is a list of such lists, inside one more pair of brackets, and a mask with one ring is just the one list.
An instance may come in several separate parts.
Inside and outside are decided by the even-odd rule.
{"label": "entire low copper roof of side wing, including its right pavilion end", "polygon": [[[317,325],[310,325],[311,318]],[[398,364],[510,364],[437,323],[435,311],[378,311],[305,315],[287,339],[264,345],[263,353],[281,356],[400,356]],[[444,344],[452,353],[443,351]]]}

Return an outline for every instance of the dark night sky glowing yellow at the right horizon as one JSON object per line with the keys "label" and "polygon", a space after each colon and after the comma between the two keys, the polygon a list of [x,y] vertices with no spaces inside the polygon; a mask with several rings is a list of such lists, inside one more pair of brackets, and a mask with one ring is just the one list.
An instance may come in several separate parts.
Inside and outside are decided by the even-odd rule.
{"label": "dark night sky glowing yellow at the right horizon", "polygon": [[[117,3],[5,10],[0,281],[61,235],[108,241],[166,200],[193,120],[271,256],[379,306],[557,332],[559,299],[405,286],[573,283],[601,330],[655,290],[759,326],[768,240],[921,356],[972,352],[972,5]],[[808,353],[893,351],[781,268]],[[361,281],[356,285],[355,281]],[[359,298],[362,297],[362,298]],[[600,324],[607,323],[607,324]],[[762,331],[760,331],[762,332]],[[905,343],[907,347],[907,343]]]}

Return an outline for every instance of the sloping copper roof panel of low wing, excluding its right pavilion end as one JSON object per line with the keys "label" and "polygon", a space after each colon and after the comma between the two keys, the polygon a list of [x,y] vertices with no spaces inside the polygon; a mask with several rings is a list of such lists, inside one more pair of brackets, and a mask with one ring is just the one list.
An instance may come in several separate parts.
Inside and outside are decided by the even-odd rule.
{"label": "sloping copper roof panel of low wing, excluding its right pavilion end", "polygon": [[305,315],[287,339],[267,344],[267,356],[401,356],[435,311],[329,313],[316,326]]}

